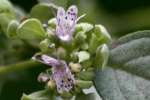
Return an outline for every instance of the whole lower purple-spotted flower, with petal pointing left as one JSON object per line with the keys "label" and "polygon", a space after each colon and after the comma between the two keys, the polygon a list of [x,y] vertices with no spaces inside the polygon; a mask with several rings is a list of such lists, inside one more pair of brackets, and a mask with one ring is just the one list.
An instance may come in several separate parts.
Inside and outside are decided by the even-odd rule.
{"label": "whole lower purple-spotted flower, with petal pointing left", "polygon": [[36,55],[33,59],[52,67],[52,79],[58,93],[69,92],[73,88],[75,79],[65,61],[47,55]]}

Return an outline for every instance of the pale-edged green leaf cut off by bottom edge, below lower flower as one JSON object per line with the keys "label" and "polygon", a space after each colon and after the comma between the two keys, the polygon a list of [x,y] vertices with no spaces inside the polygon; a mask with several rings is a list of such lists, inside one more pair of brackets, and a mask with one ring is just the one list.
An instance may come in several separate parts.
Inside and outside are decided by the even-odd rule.
{"label": "pale-edged green leaf cut off by bottom edge, below lower flower", "polygon": [[47,90],[41,90],[30,95],[23,94],[21,100],[54,100],[51,95],[51,92]]}

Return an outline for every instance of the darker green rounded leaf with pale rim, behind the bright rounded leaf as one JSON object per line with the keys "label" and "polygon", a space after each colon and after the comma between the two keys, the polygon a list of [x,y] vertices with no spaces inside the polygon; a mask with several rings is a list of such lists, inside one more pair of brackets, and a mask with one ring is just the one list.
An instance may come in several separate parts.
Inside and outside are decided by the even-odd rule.
{"label": "darker green rounded leaf with pale rim, behind the bright rounded leaf", "polygon": [[54,16],[52,10],[56,10],[57,7],[53,4],[40,3],[35,5],[30,12],[31,18],[37,18],[41,22],[47,22],[52,16]]}

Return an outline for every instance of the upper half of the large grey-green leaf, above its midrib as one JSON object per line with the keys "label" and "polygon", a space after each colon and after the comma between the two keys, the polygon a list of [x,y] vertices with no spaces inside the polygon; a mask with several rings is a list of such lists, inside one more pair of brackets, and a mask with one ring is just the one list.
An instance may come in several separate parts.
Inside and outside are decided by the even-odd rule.
{"label": "upper half of the large grey-green leaf, above its midrib", "polygon": [[150,79],[150,31],[134,32],[112,44],[109,65]]}

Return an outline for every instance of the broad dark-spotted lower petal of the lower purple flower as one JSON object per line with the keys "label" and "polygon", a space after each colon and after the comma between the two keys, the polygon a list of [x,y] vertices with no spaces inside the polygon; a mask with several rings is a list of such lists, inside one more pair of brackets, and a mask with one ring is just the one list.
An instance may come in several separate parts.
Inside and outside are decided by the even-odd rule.
{"label": "broad dark-spotted lower petal of the lower purple flower", "polygon": [[64,61],[61,61],[61,66],[53,68],[53,79],[59,93],[70,91],[75,84],[74,76]]}

